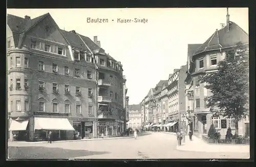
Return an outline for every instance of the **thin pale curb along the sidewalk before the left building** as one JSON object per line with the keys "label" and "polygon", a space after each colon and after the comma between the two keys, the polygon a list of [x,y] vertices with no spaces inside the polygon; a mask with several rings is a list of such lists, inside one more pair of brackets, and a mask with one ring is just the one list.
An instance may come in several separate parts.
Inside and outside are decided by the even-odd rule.
{"label": "thin pale curb along the sidewalk before the left building", "polygon": [[[52,143],[65,143],[65,142],[85,142],[85,141],[99,141],[99,140],[114,140],[114,139],[123,139],[123,138],[133,138],[131,137],[109,137],[109,138],[87,138],[81,140],[71,140],[71,141],[54,141]],[[39,143],[48,143],[47,141],[43,142],[8,142],[9,144],[39,144]]]}

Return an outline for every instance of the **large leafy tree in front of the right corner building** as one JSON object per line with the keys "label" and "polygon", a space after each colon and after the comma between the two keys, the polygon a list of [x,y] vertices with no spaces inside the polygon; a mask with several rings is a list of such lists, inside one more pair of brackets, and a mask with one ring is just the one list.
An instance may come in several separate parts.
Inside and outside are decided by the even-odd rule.
{"label": "large leafy tree in front of the right corner building", "polygon": [[236,133],[238,122],[248,112],[249,102],[249,59],[247,45],[237,43],[226,52],[224,60],[218,63],[218,71],[200,77],[205,88],[212,93],[208,107],[214,115],[234,118]]}

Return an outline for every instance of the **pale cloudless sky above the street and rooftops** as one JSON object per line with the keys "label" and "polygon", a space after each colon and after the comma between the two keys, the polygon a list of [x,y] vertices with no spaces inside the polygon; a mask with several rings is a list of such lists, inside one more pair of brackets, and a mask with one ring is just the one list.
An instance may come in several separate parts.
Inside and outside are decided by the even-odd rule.
{"label": "pale cloudless sky above the street and rooftops", "polygon": [[[248,33],[248,8],[229,8],[230,21]],[[50,13],[60,29],[98,41],[106,53],[123,65],[129,104],[138,104],[160,80],[186,65],[187,45],[204,43],[221,23],[226,8],[137,8],[137,9],[7,9],[7,14],[33,19]],[[108,23],[87,22],[87,18]],[[147,19],[147,22],[117,22]],[[113,21],[112,21],[113,20]]]}

